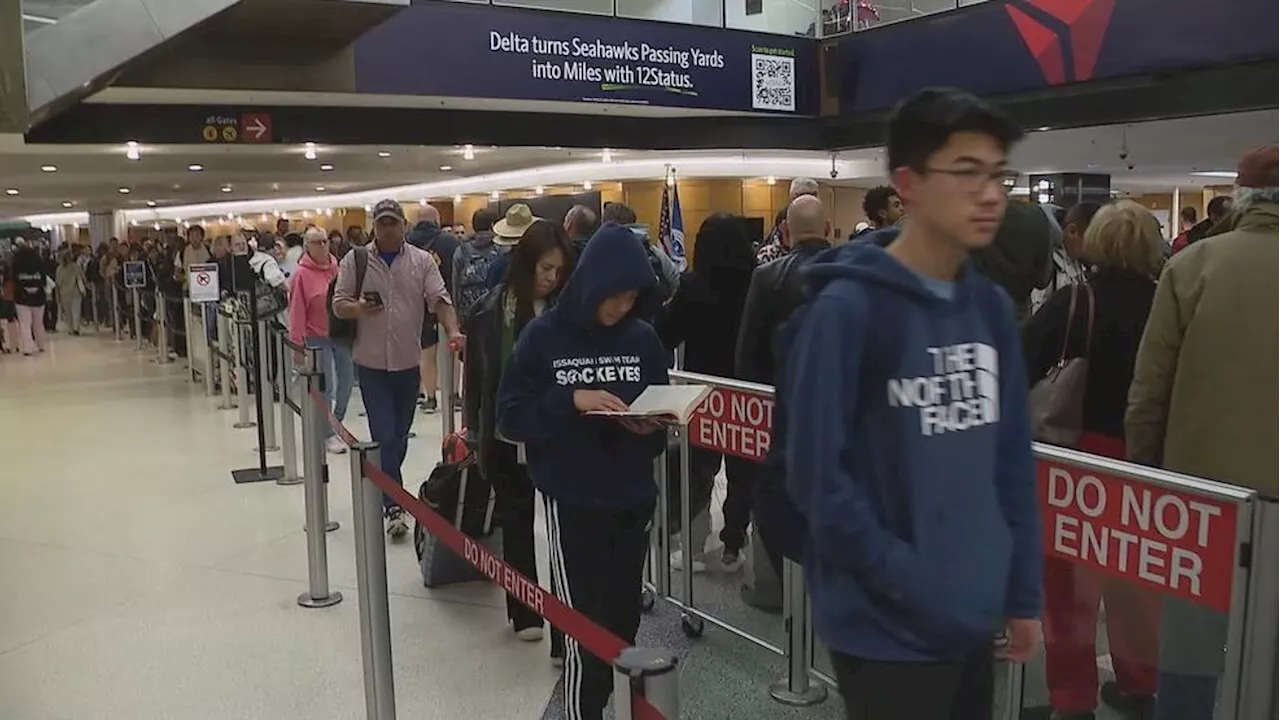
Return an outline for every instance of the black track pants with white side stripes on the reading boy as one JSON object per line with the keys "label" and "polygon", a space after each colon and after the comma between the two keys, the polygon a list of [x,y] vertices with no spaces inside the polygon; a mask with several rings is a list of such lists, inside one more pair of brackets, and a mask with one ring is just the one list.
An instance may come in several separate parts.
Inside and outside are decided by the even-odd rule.
{"label": "black track pants with white side stripes on the reading boy", "polygon": [[[556,594],[593,621],[635,643],[653,503],[612,509],[547,498]],[[613,667],[564,638],[568,720],[600,720],[613,693]]]}

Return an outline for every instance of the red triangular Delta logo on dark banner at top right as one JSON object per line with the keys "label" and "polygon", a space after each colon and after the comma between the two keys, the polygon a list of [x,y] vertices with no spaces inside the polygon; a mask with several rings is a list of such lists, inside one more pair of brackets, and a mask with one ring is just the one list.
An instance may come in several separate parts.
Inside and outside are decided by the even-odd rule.
{"label": "red triangular Delta logo on dark banner at top right", "polygon": [[1005,10],[1048,85],[1093,79],[1116,0],[1010,0]]}

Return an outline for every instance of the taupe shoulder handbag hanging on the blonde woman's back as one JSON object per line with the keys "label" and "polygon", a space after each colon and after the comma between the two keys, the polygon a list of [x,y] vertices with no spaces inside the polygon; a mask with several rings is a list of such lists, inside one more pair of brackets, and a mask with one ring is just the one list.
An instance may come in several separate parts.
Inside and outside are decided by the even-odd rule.
{"label": "taupe shoulder handbag hanging on the blonde woman's back", "polygon": [[[1088,320],[1085,322],[1084,355],[1066,359],[1066,346],[1071,340],[1071,325],[1075,322],[1075,305],[1080,288],[1088,297]],[[1066,316],[1066,332],[1062,334],[1062,351],[1057,364],[1044,374],[1029,395],[1032,434],[1041,442],[1062,447],[1075,447],[1084,432],[1084,387],[1089,375],[1089,350],[1093,346],[1093,288],[1089,283],[1071,286],[1071,309]]]}

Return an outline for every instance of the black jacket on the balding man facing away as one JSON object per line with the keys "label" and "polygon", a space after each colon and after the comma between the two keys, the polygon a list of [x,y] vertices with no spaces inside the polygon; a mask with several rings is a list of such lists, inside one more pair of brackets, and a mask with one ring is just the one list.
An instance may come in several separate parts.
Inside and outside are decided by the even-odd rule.
{"label": "black jacket on the balding man facing away", "polygon": [[806,297],[801,270],[815,255],[831,247],[826,240],[801,240],[791,252],[765,263],[751,273],[751,286],[742,307],[737,333],[735,377],[773,384],[773,337]]}

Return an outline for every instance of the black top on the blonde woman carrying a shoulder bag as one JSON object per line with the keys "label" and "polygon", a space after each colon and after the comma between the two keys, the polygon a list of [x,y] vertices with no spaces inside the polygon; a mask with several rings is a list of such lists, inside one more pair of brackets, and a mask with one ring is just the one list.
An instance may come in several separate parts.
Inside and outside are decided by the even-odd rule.
{"label": "black top on the blonde woman carrying a shoulder bag", "polygon": [[[1147,315],[1156,296],[1156,282],[1126,270],[1098,270],[1089,275],[1093,288],[1093,342],[1089,350],[1089,375],[1084,388],[1084,429],[1124,439],[1124,414],[1129,384],[1138,357],[1138,343],[1147,327]],[[1023,329],[1023,355],[1027,377],[1037,383],[1057,364],[1066,334],[1071,288],[1064,287],[1041,305]],[[1066,359],[1085,351],[1088,296],[1076,296]]]}

